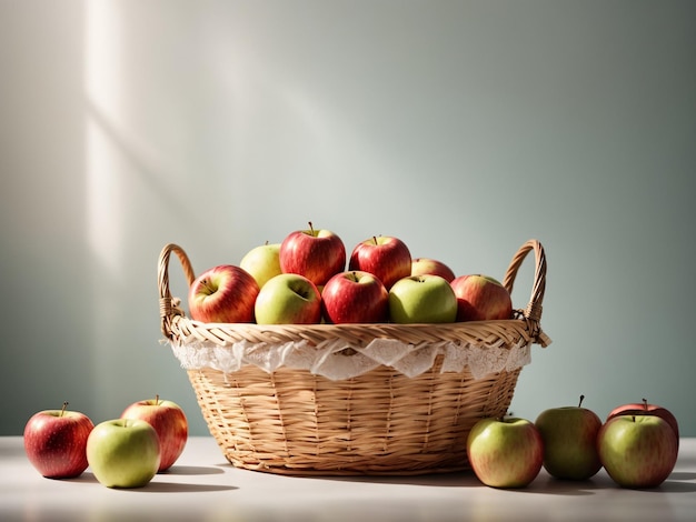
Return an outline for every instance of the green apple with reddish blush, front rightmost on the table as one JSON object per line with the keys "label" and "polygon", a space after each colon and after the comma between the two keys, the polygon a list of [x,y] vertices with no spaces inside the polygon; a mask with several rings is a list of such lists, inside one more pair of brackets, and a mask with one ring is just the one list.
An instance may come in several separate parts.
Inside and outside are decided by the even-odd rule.
{"label": "green apple with reddish blush, front rightmost on the table", "polygon": [[599,459],[623,488],[662,484],[677,462],[674,429],[657,415],[618,415],[604,423],[597,436]]}

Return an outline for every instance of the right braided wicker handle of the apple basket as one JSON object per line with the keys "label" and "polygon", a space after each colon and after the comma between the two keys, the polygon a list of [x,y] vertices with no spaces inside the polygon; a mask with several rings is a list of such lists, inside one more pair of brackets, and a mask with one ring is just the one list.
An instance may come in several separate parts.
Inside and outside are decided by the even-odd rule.
{"label": "right braided wicker handle of the apple basket", "polygon": [[529,252],[534,250],[535,254],[535,271],[534,271],[534,284],[531,287],[531,297],[529,298],[529,303],[527,308],[521,311],[524,319],[531,323],[535,331],[535,342],[546,348],[551,343],[551,340],[541,331],[540,321],[541,321],[541,303],[544,302],[544,292],[546,291],[546,254],[544,252],[544,247],[536,239],[530,239],[525,244],[523,244],[517,253],[513,257],[510,264],[505,272],[505,278],[503,279],[503,285],[508,290],[508,292],[513,293],[513,287],[515,284],[515,278],[517,277],[517,271],[521,265],[523,261],[527,257]]}

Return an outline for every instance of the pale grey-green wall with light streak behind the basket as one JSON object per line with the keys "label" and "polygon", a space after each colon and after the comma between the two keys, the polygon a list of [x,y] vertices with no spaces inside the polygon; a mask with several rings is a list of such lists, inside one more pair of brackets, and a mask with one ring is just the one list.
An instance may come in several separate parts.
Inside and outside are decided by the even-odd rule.
{"label": "pale grey-green wall with light streak behind the basket", "polygon": [[646,396],[696,436],[695,51],[690,1],[0,1],[0,434],[155,393],[206,433],[159,250],[312,220],[497,277],[538,238],[513,411]]}

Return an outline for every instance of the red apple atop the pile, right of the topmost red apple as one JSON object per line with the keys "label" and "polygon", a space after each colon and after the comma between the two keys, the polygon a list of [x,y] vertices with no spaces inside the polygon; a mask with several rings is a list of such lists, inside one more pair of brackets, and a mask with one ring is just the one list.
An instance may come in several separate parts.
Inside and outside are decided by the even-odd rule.
{"label": "red apple atop the pile, right of the topmost red apple", "polygon": [[399,279],[411,274],[411,254],[400,239],[376,235],[356,244],[348,270],[374,273],[389,290]]}

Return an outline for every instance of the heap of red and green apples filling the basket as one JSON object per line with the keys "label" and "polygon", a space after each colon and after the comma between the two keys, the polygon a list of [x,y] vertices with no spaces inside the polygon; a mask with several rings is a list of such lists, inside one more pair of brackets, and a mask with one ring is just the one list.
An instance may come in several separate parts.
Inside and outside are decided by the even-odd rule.
{"label": "heap of red and green apples filling the basket", "polygon": [[450,323],[510,319],[513,303],[494,278],[412,259],[395,237],[368,238],[348,258],[339,235],[310,222],[253,248],[239,265],[202,272],[189,288],[189,312],[220,323]]}

